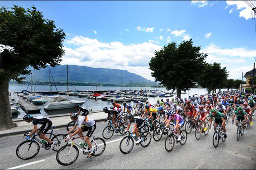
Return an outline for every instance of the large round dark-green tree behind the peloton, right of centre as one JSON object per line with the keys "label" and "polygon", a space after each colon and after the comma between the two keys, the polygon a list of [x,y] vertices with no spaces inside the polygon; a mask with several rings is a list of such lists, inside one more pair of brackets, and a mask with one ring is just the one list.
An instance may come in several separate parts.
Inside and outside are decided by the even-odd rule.
{"label": "large round dark-green tree behind the peloton, right of centre", "polygon": [[155,81],[159,81],[168,90],[185,91],[198,81],[201,68],[207,54],[200,53],[201,47],[193,46],[192,39],[182,41],[178,47],[175,42],[155,52],[149,63]]}

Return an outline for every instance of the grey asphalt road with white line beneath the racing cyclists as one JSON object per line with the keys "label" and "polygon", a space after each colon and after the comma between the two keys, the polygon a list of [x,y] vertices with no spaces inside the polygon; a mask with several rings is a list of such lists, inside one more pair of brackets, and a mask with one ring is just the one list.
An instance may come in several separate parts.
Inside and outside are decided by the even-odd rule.
{"label": "grey asphalt road with white line beneath the racing cyclists", "polygon": [[[255,119],[255,117],[253,117]],[[40,148],[39,153],[30,160],[22,160],[16,156],[17,146],[24,141],[23,135],[0,138],[0,169],[12,168],[33,162],[19,169],[255,169],[256,168],[256,122],[245,130],[245,135],[236,140],[236,126],[231,120],[227,122],[227,139],[220,141],[214,148],[213,132],[202,134],[201,139],[195,138],[195,129],[188,134],[185,145],[176,144],[171,152],[164,148],[166,136],[158,142],[152,140],[148,147],[134,145],[128,154],[122,154],[119,143],[123,136],[114,133],[112,138],[105,140],[105,151],[97,157],[86,158],[81,151],[78,159],[69,166],[62,166],[56,161],[56,152]],[[102,137],[102,130],[106,126],[97,123],[94,132],[96,137]],[[32,127],[31,127],[32,128]],[[65,128],[56,129],[55,133],[66,133]],[[116,141],[115,141],[116,140]],[[35,162],[39,161],[39,162]]]}

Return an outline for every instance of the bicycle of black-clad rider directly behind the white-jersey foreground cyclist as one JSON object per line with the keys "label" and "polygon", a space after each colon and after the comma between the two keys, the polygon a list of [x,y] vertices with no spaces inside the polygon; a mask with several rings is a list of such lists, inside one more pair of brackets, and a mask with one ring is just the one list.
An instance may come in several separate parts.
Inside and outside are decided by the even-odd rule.
{"label": "bicycle of black-clad rider directly behind the white-jersey foreground cyclist", "polygon": [[[119,128],[118,130],[119,133],[124,134],[123,130],[128,126],[128,124],[125,122],[122,122],[121,120],[117,120],[116,123],[117,123],[117,127]],[[116,127],[112,123],[112,120],[110,120],[108,124],[109,125],[105,127],[102,131],[102,136],[104,139],[110,139],[113,136],[114,131],[116,130]]]}

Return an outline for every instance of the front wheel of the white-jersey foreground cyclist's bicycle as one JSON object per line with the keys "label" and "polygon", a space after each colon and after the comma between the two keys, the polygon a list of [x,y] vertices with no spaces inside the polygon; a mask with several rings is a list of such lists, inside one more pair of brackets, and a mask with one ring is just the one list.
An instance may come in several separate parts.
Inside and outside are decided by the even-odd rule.
{"label": "front wheel of the white-jersey foreground cyclist's bicycle", "polygon": [[79,155],[79,150],[76,145],[71,146],[71,144],[67,144],[62,146],[57,154],[56,160],[59,164],[67,166],[74,163]]}

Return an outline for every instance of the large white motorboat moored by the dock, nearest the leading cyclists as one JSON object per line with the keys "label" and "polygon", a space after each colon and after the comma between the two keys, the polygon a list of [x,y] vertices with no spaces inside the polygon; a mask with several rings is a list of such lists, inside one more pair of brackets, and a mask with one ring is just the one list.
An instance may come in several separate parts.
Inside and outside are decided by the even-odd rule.
{"label": "large white motorboat moored by the dock, nearest the leading cyclists", "polygon": [[74,108],[76,104],[80,106],[83,105],[85,101],[83,100],[70,100],[68,98],[58,96],[52,102],[47,102],[44,104],[45,110],[57,110],[57,109],[67,109]]}

